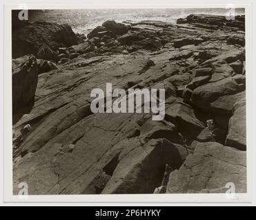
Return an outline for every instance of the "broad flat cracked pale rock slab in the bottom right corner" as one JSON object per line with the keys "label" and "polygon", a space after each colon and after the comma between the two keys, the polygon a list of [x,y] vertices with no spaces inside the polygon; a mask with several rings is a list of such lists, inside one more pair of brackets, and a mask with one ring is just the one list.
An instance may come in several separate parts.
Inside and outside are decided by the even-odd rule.
{"label": "broad flat cracked pale rock slab in the bottom right corner", "polygon": [[[237,175],[234,175],[237,173]],[[170,173],[166,193],[197,193],[235,184],[235,192],[246,192],[246,152],[217,142],[197,144],[184,164]]]}

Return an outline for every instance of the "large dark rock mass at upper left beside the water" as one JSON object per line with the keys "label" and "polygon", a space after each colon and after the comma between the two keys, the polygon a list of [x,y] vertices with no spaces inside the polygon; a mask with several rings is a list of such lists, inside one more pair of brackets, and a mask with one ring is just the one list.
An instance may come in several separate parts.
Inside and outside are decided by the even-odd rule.
{"label": "large dark rock mass at upper left beside the water", "polygon": [[37,55],[43,44],[51,50],[59,47],[70,47],[81,41],[72,31],[70,25],[47,22],[19,21],[12,29],[12,58],[26,54]]}

